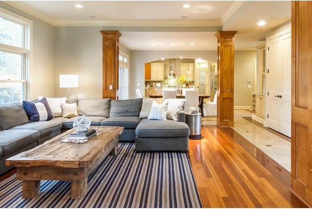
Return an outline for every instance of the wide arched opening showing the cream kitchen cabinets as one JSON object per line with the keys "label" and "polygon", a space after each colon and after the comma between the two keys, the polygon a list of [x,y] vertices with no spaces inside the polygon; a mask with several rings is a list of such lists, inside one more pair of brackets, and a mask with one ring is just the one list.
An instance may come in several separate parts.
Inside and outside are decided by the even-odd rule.
{"label": "wide arched opening showing the cream kitchen cabinets", "polygon": [[145,96],[161,94],[164,86],[194,86],[199,94],[210,95],[211,100],[217,88],[216,63],[195,57],[167,57],[145,63]]}

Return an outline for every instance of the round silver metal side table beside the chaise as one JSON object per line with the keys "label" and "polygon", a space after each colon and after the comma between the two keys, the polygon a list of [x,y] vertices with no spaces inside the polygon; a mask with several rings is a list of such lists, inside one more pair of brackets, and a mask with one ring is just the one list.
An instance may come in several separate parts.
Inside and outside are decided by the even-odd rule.
{"label": "round silver metal side table beside the chaise", "polygon": [[201,139],[201,113],[185,113],[185,123],[190,128],[190,139]]}

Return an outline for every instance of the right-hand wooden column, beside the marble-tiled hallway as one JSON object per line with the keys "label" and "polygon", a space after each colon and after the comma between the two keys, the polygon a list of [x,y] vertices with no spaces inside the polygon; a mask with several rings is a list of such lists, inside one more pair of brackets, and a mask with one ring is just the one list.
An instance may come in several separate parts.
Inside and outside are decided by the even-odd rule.
{"label": "right-hand wooden column, beside the marble-tiled hallway", "polygon": [[217,125],[234,126],[234,35],[237,31],[219,31]]}

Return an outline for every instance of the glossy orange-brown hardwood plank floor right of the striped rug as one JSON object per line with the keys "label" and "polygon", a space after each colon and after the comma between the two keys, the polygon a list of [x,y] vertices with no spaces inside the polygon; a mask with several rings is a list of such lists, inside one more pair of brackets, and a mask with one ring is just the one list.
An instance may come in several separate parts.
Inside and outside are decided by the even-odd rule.
{"label": "glossy orange-brown hardwood plank floor right of the striped rug", "polygon": [[204,208],[306,207],[225,131],[201,131],[201,140],[190,140],[189,157]]}

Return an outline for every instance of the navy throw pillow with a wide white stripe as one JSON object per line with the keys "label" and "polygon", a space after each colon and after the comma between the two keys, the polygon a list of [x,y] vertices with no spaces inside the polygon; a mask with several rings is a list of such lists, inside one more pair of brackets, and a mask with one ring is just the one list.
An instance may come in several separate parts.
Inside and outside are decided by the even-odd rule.
{"label": "navy throw pillow with a wide white stripe", "polygon": [[29,122],[51,120],[53,118],[52,110],[45,97],[37,103],[23,101],[23,107],[29,117]]}

